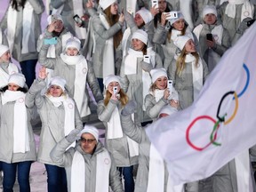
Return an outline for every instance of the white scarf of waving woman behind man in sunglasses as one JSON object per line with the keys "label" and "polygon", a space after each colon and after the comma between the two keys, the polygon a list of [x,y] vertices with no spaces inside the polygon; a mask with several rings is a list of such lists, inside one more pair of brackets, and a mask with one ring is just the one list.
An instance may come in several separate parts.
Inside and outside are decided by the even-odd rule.
{"label": "white scarf of waving woman behind man in sunglasses", "polygon": [[[67,96],[52,97],[52,95],[46,94],[46,97],[52,101],[52,104],[58,108],[63,104],[65,110],[64,120],[64,134],[68,135],[69,132],[75,129],[75,102]],[[71,147],[75,147],[75,142]]]}

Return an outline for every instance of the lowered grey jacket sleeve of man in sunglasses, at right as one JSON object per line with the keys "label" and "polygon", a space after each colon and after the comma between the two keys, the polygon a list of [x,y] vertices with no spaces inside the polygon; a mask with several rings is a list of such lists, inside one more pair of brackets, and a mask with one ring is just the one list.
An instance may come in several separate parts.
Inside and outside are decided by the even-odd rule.
{"label": "lowered grey jacket sleeve of man in sunglasses, at right", "polygon": [[109,156],[111,158],[111,167],[109,172],[109,185],[112,191],[123,192],[124,189],[123,189],[122,181],[120,178],[120,172],[118,172],[116,169],[115,159],[113,158],[113,156],[111,156],[110,153],[109,153]]}

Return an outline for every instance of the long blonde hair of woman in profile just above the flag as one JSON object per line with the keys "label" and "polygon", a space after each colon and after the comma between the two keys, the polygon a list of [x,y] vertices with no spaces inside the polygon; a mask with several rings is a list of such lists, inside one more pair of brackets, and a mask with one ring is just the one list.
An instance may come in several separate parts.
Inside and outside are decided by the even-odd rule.
{"label": "long blonde hair of woman in profile just above the flag", "polygon": [[[178,76],[181,76],[182,71],[186,67],[185,59],[187,54],[188,53],[186,52],[186,49],[184,47],[176,61],[176,74]],[[199,54],[197,52],[191,52],[191,54],[196,58],[195,66],[198,67]]]}

